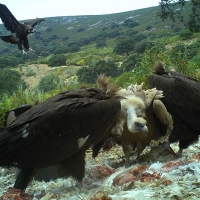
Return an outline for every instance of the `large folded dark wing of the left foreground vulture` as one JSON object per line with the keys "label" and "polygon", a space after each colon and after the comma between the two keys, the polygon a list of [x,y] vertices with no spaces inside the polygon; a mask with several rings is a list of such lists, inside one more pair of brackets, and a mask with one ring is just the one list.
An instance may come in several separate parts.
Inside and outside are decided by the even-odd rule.
{"label": "large folded dark wing of the left foreground vulture", "polygon": [[59,94],[34,106],[0,133],[0,165],[40,168],[99,143],[114,126],[120,102],[98,91]]}

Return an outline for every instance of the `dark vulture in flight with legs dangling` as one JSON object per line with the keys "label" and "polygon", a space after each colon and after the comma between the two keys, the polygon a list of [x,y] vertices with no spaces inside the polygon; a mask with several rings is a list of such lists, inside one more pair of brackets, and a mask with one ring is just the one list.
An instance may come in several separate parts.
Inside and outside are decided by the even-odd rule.
{"label": "dark vulture in flight with legs dangling", "polygon": [[0,38],[11,44],[17,44],[18,49],[26,54],[22,45],[25,49],[34,51],[29,47],[28,35],[34,33],[33,29],[35,25],[40,23],[41,21],[45,21],[43,18],[36,18],[24,23],[19,22],[6,5],[0,4],[0,18],[4,23],[4,26],[7,30],[9,30],[12,34],[7,36],[0,36]]}

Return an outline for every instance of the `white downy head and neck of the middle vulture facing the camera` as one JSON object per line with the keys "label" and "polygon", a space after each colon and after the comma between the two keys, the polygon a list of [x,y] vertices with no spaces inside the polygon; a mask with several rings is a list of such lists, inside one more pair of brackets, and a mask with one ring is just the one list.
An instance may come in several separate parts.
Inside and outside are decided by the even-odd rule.
{"label": "white downy head and neck of the middle vulture facing the camera", "polygon": [[145,113],[144,101],[135,96],[127,96],[126,99],[121,100],[122,113],[126,116],[128,129],[131,133],[142,132],[147,133],[147,121]]}

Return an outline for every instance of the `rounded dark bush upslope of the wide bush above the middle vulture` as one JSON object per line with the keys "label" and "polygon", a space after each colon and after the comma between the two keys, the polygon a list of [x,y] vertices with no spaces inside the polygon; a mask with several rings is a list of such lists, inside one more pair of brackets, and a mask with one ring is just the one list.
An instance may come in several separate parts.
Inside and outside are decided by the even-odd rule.
{"label": "rounded dark bush upslope of the wide bush above the middle vulture", "polygon": [[126,53],[127,56],[131,51],[134,49],[134,40],[131,38],[123,39],[117,42],[116,46],[113,49],[113,53],[116,54],[124,54]]}

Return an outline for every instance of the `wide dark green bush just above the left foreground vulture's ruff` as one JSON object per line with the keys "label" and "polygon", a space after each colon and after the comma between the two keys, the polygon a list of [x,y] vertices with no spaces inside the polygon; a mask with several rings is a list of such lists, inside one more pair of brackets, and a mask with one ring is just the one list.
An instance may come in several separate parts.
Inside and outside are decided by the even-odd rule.
{"label": "wide dark green bush just above the left foreground vulture's ruff", "polygon": [[122,70],[118,68],[114,61],[99,60],[88,67],[79,69],[76,75],[81,83],[95,83],[100,74],[117,77],[121,73]]}

